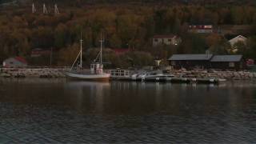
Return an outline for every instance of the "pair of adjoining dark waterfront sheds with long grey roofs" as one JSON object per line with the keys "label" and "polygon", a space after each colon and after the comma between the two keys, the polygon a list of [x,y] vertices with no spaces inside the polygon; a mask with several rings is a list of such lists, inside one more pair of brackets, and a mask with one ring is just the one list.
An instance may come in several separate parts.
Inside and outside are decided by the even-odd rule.
{"label": "pair of adjoining dark waterfront sheds with long grey roofs", "polygon": [[242,55],[174,54],[168,61],[170,62],[170,66],[173,66],[175,69],[246,69],[246,62],[242,58]]}

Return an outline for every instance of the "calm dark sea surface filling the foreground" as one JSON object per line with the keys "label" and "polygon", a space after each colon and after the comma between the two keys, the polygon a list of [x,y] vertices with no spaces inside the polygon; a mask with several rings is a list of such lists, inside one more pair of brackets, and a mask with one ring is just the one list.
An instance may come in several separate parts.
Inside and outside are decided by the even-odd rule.
{"label": "calm dark sea surface filling the foreground", "polygon": [[0,143],[255,143],[256,82],[0,79]]}

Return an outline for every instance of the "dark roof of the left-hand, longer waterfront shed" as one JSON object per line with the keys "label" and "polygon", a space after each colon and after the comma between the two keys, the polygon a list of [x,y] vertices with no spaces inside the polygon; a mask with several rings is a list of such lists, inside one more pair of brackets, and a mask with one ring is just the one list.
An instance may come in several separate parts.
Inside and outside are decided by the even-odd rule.
{"label": "dark roof of the left-hand, longer waterfront shed", "polygon": [[185,60],[210,60],[213,54],[174,54],[169,61],[185,61]]}

